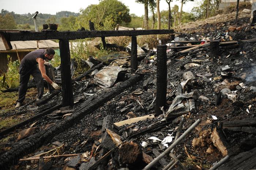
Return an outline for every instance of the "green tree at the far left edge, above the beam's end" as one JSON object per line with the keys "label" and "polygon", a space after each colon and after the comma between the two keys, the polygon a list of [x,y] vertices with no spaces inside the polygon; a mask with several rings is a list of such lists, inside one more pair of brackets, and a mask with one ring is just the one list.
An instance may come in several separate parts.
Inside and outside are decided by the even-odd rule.
{"label": "green tree at the far left edge, above the beam's end", "polygon": [[[2,10],[3,11],[3,10]],[[14,17],[11,13],[4,13],[0,15],[0,29],[16,29],[17,24],[15,23]]]}

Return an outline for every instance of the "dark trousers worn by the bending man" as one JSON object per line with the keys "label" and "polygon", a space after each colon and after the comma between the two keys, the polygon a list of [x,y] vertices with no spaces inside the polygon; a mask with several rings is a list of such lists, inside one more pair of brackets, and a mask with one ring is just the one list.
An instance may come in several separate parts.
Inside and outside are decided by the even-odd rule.
{"label": "dark trousers worn by the bending man", "polygon": [[20,81],[19,81],[19,98],[17,102],[22,103],[25,99],[27,93],[27,84],[29,82],[30,75],[33,76],[35,82],[37,83],[37,95],[41,98],[44,94],[44,80],[42,74],[37,66],[32,68],[27,68],[22,65],[19,67]]}

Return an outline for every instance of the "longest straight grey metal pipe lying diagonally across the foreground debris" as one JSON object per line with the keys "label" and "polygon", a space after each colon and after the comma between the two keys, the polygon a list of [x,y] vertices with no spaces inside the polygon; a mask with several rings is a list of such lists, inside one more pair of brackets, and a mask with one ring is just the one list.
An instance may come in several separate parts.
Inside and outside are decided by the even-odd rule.
{"label": "longest straight grey metal pipe lying diagonally across the foreground debris", "polygon": [[162,154],[160,154],[157,158],[155,158],[152,162],[150,162],[147,166],[144,167],[143,170],[148,170],[151,167],[153,167],[160,159],[162,159],[165,155],[169,154],[170,151],[174,148],[174,146],[176,146],[178,143],[180,143],[180,141],[182,139],[184,139],[199,123],[200,123],[200,119],[197,119],[195,123],[193,123],[191,125],[191,127],[189,127],[184,134],[182,134],[180,136],[180,138],[178,138],[175,142],[173,142],[173,144],[171,146],[169,146],[165,151],[162,152]]}

